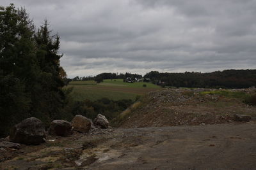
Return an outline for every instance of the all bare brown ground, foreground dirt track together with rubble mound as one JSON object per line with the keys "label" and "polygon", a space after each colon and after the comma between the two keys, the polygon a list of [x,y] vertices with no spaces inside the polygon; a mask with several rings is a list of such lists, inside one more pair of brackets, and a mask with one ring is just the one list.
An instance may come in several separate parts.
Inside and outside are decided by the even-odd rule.
{"label": "all bare brown ground, foreground dirt track together with rubble mound", "polygon": [[255,169],[256,107],[205,90],[150,92],[121,114],[120,128],[48,135],[40,145],[0,139],[0,169]]}

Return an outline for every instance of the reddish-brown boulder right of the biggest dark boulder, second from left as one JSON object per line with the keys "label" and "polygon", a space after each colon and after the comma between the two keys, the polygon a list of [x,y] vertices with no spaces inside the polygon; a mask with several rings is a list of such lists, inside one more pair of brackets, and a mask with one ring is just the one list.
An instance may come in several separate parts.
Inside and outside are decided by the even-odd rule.
{"label": "reddish-brown boulder right of the biggest dark boulder, second from left", "polygon": [[68,136],[72,134],[72,125],[66,120],[53,120],[49,134],[54,136]]}

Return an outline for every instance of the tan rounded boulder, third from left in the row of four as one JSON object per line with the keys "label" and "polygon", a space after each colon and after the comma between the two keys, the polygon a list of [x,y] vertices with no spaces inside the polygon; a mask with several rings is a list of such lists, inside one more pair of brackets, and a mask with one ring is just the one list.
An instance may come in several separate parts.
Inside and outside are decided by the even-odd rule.
{"label": "tan rounded boulder, third from left in the row of four", "polygon": [[74,131],[87,133],[91,130],[91,122],[82,115],[76,115],[71,122]]}

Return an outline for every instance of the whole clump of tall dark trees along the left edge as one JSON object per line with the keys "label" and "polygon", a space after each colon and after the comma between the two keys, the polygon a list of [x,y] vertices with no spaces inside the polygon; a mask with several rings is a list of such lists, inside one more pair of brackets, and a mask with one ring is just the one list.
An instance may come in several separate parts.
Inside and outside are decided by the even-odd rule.
{"label": "whole clump of tall dark trees along the left edge", "polygon": [[67,75],[59,48],[60,37],[51,36],[47,21],[35,32],[24,8],[0,7],[0,136],[27,117],[48,124],[67,117],[61,114]]}

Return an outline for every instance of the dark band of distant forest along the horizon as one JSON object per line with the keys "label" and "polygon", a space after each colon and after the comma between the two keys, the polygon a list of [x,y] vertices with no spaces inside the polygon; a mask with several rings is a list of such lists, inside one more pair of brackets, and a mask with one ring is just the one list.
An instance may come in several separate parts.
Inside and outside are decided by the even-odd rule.
{"label": "dark band of distant forest along the horizon", "polygon": [[159,73],[150,71],[141,76],[140,74],[116,74],[101,73],[97,76],[87,76],[69,79],[68,81],[84,81],[104,79],[125,79],[130,77],[143,78],[143,81],[151,81],[163,87],[199,87],[199,88],[228,88],[241,89],[256,85],[256,69],[228,69],[224,71],[214,71],[212,73],[185,72],[185,73]]}

